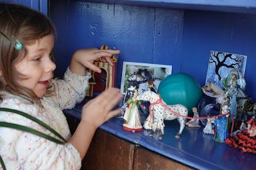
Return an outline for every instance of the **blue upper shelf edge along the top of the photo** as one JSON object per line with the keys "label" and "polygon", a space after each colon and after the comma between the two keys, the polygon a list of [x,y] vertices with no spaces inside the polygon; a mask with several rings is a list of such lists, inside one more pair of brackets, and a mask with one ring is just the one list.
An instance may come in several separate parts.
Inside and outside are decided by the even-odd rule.
{"label": "blue upper shelf edge along the top of the photo", "polygon": [[129,4],[135,6],[155,6],[161,8],[179,8],[187,10],[207,10],[218,12],[256,13],[256,1],[232,0],[96,0],[91,2]]}

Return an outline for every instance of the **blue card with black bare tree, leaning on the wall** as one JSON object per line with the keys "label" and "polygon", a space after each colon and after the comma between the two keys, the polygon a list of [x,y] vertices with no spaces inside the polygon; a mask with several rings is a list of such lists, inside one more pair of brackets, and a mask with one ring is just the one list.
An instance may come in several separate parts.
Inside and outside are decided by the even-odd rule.
{"label": "blue card with black bare tree, leaning on the wall", "polygon": [[241,54],[211,50],[205,84],[212,82],[224,89],[223,79],[232,68],[235,68],[244,76],[246,59],[247,56]]}

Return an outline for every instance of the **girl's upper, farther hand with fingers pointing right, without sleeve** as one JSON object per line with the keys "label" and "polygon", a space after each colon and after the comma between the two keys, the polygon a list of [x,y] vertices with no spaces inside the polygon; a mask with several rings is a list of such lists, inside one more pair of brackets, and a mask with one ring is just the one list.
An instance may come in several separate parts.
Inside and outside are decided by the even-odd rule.
{"label": "girl's upper, farther hand with fingers pointing right, without sleeve", "polygon": [[85,75],[86,70],[89,68],[94,72],[101,73],[101,69],[94,65],[94,61],[101,59],[102,61],[107,61],[110,65],[113,65],[110,57],[114,54],[119,54],[120,50],[99,50],[99,49],[81,49],[73,54],[71,59],[70,70],[73,73],[79,75]]}

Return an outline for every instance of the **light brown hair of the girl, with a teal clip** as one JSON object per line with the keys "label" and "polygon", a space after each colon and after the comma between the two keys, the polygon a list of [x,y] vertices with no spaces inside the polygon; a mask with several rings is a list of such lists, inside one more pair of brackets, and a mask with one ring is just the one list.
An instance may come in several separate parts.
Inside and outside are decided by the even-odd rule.
{"label": "light brown hair of the girl, with a teal clip", "polygon": [[[8,91],[30,100],[33,104],[40,104],[40,99],[31,89],[22,87],[17,82],[24,78],[15,69],[15,64],[26,56],[26,45],[32,45],[47,35],[55,36],[55,27],[40,12],[18,4],[0,3],[0,31],[8,37],[0,35],[0,91]],[[23,48],[15,49],[8,39],[19,40]],[[53,88],[49,87],[46,95],[51,95],[52,92]],[[0,94],[0,99],[2,98]]]}

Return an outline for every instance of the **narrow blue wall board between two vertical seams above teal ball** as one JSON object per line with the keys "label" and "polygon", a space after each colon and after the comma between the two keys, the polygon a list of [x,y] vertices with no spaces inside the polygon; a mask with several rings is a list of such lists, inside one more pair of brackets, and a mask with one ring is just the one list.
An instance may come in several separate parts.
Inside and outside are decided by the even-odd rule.
{"label": "narrow blue wall board between two vertical seams above teal ball", "polygon": [[156,8],[153,63],[173,65],[180,72],[182,56],[183,11]]}

